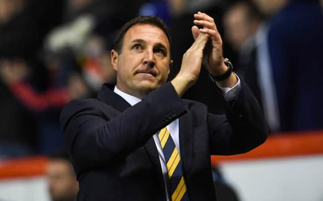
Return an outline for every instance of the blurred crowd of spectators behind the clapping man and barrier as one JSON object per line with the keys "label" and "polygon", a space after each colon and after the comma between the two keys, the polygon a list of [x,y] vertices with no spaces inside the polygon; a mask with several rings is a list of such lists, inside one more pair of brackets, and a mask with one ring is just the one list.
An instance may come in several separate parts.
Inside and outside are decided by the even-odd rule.
{"label": "blurred crowd of spectators behind the clapping man and barrier", "polygon": [[[323,128],[323,9],[309,0],[0,0],[0,160],[64,148],[62,107],[115,83],[113,39],[138,15],[169,25],[172,79],[193,42],[193,14],[214,18],[224,55],[273,134]],[[205,69],[184,98],[223,113]]]}

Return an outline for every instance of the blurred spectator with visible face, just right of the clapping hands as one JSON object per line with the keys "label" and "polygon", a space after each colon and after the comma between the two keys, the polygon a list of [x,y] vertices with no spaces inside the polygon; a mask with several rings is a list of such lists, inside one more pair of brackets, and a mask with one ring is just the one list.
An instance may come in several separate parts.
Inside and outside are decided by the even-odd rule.
{"label": "blurred spectator with visible face, just right of the clapping hands", "polygon": [[271,71],[270,67],[262,65],[265,58],[259,53],[259,47],[265,43],[263,14],[251,1],[236,1],[226,11],[223,21],[225,39],[238,53],[236,73],[258,99],[271,132],[278,131],[278,109],[272,104],[275,91]]}

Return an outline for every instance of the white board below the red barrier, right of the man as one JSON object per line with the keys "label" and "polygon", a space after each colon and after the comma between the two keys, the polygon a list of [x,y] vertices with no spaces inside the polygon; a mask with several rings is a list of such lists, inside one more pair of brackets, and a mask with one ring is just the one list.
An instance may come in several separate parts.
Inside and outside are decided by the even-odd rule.
{"label": "white board below the red barrier, right of the man", "polygon": [[322,201],[323,155],[224,163],[241,201]]}

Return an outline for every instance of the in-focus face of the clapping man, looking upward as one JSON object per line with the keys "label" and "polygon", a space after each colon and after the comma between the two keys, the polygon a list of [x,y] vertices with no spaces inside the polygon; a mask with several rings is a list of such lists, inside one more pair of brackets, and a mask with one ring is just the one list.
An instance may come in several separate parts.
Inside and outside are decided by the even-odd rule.
{"label": "in-focus face of the clapping man, looking upward", "polygon": [[173,63],[166,34],[150,24],[132,26],[124,35],[121,53],[112,50],[111,56],[118,89],[139,98],[167,81]]}

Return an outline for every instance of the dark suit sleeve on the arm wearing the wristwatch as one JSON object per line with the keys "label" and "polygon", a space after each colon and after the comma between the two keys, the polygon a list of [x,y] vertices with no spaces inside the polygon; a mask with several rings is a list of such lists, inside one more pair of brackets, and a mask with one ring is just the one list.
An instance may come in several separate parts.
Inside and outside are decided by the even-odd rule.
{"label": "dark suit sleeve on the arm wearing the wristwatch", "polygon": [[226,115],[207,116],[212,155],[246,153],[266,140],[268,127],[257,99],[245,82],[241,84],[235,102],[226,102]]}

